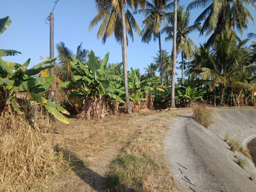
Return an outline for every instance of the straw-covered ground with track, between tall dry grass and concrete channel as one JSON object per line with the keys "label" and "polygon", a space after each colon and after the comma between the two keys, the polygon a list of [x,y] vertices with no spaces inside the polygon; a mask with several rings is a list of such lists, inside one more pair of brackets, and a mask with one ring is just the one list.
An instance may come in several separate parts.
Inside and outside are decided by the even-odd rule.
{"label": "straw-covered ground with track, between tall dry grass and concrete channel", "polygon": [[[146,110],[100,120],[76,117],[68,125],[58,123],[54,145],[66,149],[74,168],[48,180],[46,191],[176,191],[165,157],[165,136],[173,118],[191,111]],[[122,158],[127,159],[124,164]],[[124,172],[127,175],[122,177]],[[116,177],[119,179],[113,183]]]}

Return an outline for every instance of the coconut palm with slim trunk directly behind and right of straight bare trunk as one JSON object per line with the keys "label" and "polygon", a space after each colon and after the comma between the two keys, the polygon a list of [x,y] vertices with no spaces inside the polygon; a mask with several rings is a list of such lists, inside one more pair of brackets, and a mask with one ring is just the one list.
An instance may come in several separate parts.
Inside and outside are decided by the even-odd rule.
{"label": "coconut palm with slim trunk directly behind and right of straight bare trunk", "polygon": [[[173,39],[173,17],[169,17],[168,20],[172,24],[172,26],[168,26],[163,29],[163,32],[166,32],[168,37],[165,39],[172,40]],[[185,10],[185,6],[179,6],[177,8],[177,47],[176,52],[179,54],[181,52],[182,59],[182,84],[184,84],[184,58],[191,60],[194,58],[194,50],[197,49],[196,44],[188,37],[191,32],[195,30],[200,30],[200,23],[189,26],[190,20],[190,11]]]}

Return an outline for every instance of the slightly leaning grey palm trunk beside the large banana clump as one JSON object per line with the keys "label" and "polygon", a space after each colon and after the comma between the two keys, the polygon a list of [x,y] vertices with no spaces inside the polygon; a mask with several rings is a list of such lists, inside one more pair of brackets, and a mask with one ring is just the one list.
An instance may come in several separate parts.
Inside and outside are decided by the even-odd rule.
{"label": "slightly leaning grey palm trunk beside the large banana clump", "polygon": [[126,105],[128,114],[132,114],[130,105],[129,89],[128,89],[128,75],[127,75],[127,42],[126,42],[126,24],[124,16],[124,0],[120,0],[121,14],[122,14],[122,38],[123,38],[123,53],[124,53],[124,90],[126,92]]}

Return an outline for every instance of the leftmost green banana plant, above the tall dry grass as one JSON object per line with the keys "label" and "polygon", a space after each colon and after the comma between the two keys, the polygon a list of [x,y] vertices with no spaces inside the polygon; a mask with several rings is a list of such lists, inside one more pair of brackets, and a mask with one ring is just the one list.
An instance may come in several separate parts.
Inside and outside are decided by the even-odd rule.
{"label": "leftmost green banana plant, above the tall dry grass", "polygon": [[55,60],[56,58],[49,59],[28,69],[30,63],[30,59],[28,59],[24,64],[15,64],[13,70],[8,65],[8,62],[4,62],[0,58],[0,90],[4,93],[4,95],[1,94],[1,97],[4,98],[5,105],[11,102],[14,110],[20,114],[18,99],[27,100],[30,104],[29,108],[34,104],[42,104],[58,120],[70,123],[60,113],[69,114],[68,111],[39,95],[44,94],[48,90],[54,80],[54,76],[36,78],[35,75],[42,70],[53,68],[53,65],[44,66],[44,64],[54,62]]}

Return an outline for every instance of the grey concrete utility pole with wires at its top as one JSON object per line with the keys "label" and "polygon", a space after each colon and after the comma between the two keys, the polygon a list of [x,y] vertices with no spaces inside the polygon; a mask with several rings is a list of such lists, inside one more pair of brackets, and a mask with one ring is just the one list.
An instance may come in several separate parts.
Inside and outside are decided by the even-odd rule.
{"label": "grey concrete utility pole with wires at its top", "polygon": [[[54,16],[50,13],[50,59],[54,58]],[[54,62],[51,63],[53,65]],[[54,68],[50,69],[50,76],[54,76]]]}

